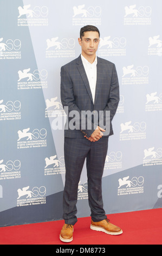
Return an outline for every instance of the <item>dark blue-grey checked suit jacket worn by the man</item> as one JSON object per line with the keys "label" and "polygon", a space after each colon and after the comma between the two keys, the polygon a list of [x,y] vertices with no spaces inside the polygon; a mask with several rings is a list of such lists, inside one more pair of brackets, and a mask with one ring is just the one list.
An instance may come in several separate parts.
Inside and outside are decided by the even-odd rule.
{"label": "dark blue-grey checked suit jacket worn by the man", "polygon": [[[106,111],[110,111],[110,126],[103,127],[106,129],[106,132],[103,133],[105,136],[113,135],[112,119],[119,103],[119,83],[115,65],[98,57],[94,103],[81,56],[62,66],[61,101],[64,109],[68,107],[68,112],[66,111],[67,124],[64,130],[65,137],[82,138],[85,135],[90,137],[95,127],[99,125],[99,119],[103,118],[105,122]],[[72,115],[76,111],[78,114]],[[98,123],[92,125],[92,129],[89,129],[89,124],[94,123],[93,115],[92,119],[88,119],[87,115],[84,116],[81,111],[91,111],[93,114],[98,114]],[[81,126],[81,118],[86,120],[86,127]],[[69,129],[70,121],[74,123],[76,129]]]}

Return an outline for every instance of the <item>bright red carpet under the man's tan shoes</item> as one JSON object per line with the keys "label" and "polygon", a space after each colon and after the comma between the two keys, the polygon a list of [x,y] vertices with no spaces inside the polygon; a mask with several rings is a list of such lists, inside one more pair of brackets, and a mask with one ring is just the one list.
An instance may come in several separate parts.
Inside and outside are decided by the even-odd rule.
{"label": "bright red carpet under the man's tan shoes", "polygon": [[90,217],[79,218],[74,226],[73,241],[59,239],[64,221],[43,222],[0,228],[1,245],[161,245],[162,209],[152,209],[107,217],[123,234],[107,235],[89,228]]}

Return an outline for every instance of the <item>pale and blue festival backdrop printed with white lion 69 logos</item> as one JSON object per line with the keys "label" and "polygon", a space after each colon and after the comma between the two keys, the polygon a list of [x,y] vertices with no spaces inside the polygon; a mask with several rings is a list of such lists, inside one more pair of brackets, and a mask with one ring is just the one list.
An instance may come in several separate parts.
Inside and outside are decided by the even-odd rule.
{"label": "pale and blue festival backdrop printed with white lion 69 logos", "polygon": [[[161,1],[0,0],[0,225],[62,219],[61,66],[81,53],[80,28],[100,30],[120,102],[102,178],[106,214],[162,206]],[[90,215],[86,167],[77,217]]]}

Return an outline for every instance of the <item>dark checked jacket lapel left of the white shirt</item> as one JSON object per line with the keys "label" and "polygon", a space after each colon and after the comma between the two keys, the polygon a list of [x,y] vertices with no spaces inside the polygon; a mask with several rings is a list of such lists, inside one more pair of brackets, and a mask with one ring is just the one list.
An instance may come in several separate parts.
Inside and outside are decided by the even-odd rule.
{"label": "dark checked jacket lapel left of the white shirt", "polygon": [[82,60],[81,60],[81,56],[79,56],[79,58],[77,58],[76,64],[77,64],[77,69],[79,70],[80,75],[82,77],[82,80],[85,83],[85,87],[86,87],[87,92],[89,94],[90,100],[92,100],[92,102],[93,102],[92,93],[91,93],[91,90],[90,90],[90,87],[89,87],[88,78],[87,78],[86,71],[85,71],[85,68],[84,68]]}

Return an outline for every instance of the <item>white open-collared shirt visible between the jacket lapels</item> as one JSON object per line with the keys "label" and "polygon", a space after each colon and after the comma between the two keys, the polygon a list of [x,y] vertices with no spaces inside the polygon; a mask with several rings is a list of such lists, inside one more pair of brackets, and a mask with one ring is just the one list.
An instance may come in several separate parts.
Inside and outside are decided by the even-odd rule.
{"label": "white open-collared shirt visible between the jacket lapels", "polygon": [[88,62],[88,60],[82,56],[81,54],[81,59],[82,59],[82,63],[83,66],[85,68],[86,71],[86,75],[88,77],[88,82],[89,82],[89,86],[90,86],[90,90],[92,93],[92,98],[93,98],[93,103],[94,103],[94,98],[95,98],[95,88],[96,88],[96,81],[97,81],[97,57],[95,57],[94,62],[91,64]]}

